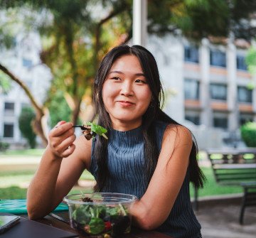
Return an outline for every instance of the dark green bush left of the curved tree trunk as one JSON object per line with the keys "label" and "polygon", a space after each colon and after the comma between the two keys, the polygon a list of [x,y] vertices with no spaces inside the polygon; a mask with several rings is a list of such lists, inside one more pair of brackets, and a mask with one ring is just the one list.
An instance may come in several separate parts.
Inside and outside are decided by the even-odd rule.
{"label": "dark green bush left of the curved tree trunk", "polygon": [[31,148],[36,147],[36,134],[33,132],[32,122],[36,117],[31,107],[23,107],[21,114],[18,117],[18,126],[21,134],[28,140]]}

